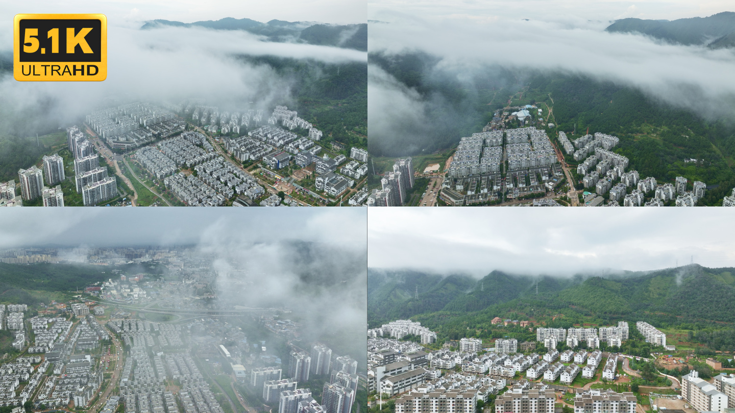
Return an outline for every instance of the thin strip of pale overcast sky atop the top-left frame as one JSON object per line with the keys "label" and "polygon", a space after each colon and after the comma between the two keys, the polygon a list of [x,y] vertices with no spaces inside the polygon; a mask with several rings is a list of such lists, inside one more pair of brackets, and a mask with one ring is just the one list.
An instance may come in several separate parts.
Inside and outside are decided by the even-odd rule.
{"label": "thin strip of pale overcast sky atop the top-left frame", "polygon": [[103,13],[111,26],[139,24],[146,20],[193,21],[221,18],[319,21],[332,24],[365,23],[365,1],[360,0],[29,0],[0,2],[2,15],[10,20],[18,13]]}

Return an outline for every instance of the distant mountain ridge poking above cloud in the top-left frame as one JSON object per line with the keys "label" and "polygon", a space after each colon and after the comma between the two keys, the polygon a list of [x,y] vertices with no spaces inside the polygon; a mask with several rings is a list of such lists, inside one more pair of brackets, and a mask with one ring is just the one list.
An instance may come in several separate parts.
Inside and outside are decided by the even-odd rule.
{"label": "distant mountain ridge poking above cloud in the top-left frame", "polygon": [[217,21],[181,21],[151,20],[146,21],[140,29],[150,30],[160,27],[206,27],[215,30],[244,30],[255,35],[268,37],[270,41],[283,42],[298,40],[320,46],[337,46],[345,49],[368,51],[368,24],[317,24],[306,21],[271,20],[261,23],[249,18],[221,18]]}

